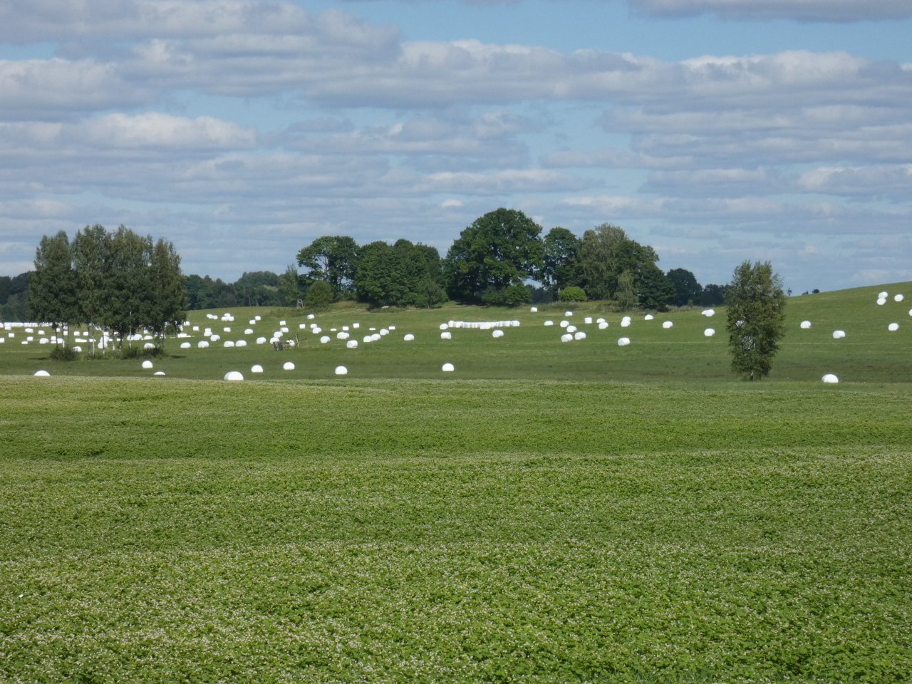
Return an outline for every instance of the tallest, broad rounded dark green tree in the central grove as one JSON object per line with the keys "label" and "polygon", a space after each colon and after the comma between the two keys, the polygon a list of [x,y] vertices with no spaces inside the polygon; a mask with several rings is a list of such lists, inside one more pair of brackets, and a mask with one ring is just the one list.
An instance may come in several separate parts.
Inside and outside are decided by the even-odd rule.
{"label": "tallest, broad rounded dark green tree in the central grove", "polygon": [[522,285],[540,273],[544,258],[541,232],[538,223],[515,209],[501,208],[475,219],[444,260],[451,298],[479,303],[486,294],[491,297],[492,291]]}

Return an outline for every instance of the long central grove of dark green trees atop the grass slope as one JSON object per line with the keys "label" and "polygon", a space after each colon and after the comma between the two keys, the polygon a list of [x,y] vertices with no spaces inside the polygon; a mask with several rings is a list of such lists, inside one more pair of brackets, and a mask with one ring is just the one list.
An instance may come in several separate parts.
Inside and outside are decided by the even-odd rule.
{"label": "long central grove of dark green trees atop the grass slope", "polygon": [[[663,272],[658,254],[622,228],[603,223],[581,237],[542,226],[523,212],[497,209],[466,227],[444,257],[425,244],[399,240],[359,246],[345,235],[322,236],[301,249],[300,292],[355,298],[372,306],[613,300],[622,309],[721,304],[723,285],[702,286],[688,270]],[[292,268],[290,266],[289,268]]]}

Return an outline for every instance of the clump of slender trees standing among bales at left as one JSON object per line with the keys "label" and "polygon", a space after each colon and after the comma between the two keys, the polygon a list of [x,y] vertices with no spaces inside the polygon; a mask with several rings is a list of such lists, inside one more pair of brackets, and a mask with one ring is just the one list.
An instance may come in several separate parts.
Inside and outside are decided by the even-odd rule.
{"label": "clump of slender trees standing among bales at left", "polygon": [[170,242],[86,226],[45,235],[28,276],[29,317],[59,329],[85,324],[122,340],[140,330],[163,341],[186,316],[181,257]]}

